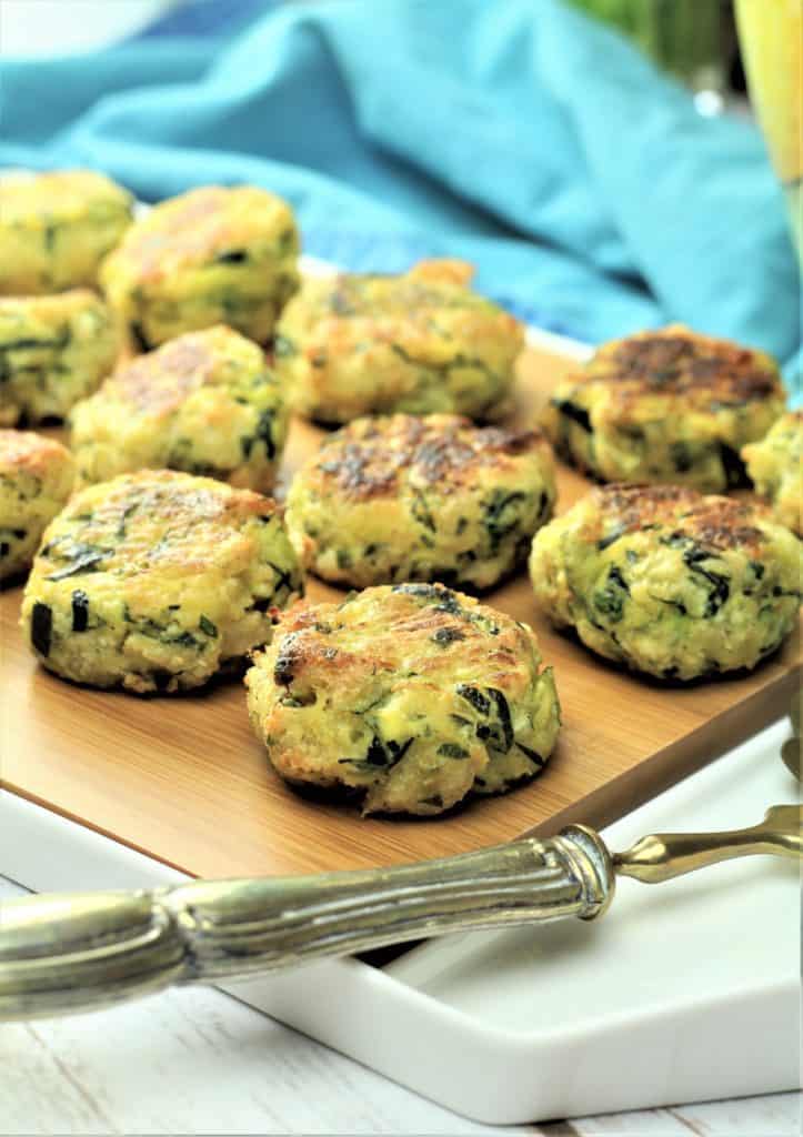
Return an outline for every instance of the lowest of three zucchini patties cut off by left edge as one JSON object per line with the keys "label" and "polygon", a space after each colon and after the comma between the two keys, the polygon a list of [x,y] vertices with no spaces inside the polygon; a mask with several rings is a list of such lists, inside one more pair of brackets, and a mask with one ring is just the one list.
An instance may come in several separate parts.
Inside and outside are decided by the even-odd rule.
{"label": "lowest of three zucchini patties cut off by left edge", "polygon": [[73,456],[60,442],[0,430],[0,580],[27,568],[74,476]]}

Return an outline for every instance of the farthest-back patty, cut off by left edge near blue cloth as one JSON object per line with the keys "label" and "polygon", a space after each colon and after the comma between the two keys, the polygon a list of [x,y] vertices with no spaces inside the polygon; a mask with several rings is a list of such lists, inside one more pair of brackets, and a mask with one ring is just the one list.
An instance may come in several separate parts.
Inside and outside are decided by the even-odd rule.
{"label": "farthest-back patty, cut off by left edge near blue cloth", "polygon": [[94,284],[132,207],[126,190],[91,169],[0,179],[0,292]]}

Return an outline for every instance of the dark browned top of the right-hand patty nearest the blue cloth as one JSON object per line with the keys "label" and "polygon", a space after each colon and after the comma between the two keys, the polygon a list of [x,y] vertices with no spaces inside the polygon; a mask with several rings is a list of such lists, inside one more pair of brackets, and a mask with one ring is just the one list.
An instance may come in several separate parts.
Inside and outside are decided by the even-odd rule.
{"label": "dark browned top of the right-hand patty nearest the blue cloth", "polygon": [[572,379],[616,384],[620,405],[644,395],[704,396],[728,405],[783,393],[777,372],[758,352],[679,325],[604,345]]}

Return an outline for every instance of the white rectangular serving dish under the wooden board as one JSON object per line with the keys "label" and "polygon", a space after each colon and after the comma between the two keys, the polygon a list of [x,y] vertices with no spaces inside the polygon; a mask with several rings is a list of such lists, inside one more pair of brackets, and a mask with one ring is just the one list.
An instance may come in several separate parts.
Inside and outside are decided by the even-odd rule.
{"label": "white rectangular serving dish under the wooden board", "polygon": [[[787,735],[768,728],[607,841],[760,820],[795,797],[778,760]],[[0,872],[35,890],[183,879],[8,792]],[[224,989],[491,1123],[765,1094],[801,1085],[798,916],[797,863],[756,857],[652,888],[624,880],[596,923],[452,937],[384,970],[338,960]]]}

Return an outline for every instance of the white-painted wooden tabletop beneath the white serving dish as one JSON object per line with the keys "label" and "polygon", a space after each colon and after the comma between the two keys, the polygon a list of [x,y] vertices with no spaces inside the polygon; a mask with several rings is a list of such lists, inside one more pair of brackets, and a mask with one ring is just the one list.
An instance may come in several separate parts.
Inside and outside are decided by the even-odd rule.
{"label": "white-painted wooden tabletop beneath the white serving dish", "polygon": [[[0,904],[23,889],[0,877]],[[381,1024],[378,1024],[381,1029]],[[0,1027],[0,1134],[622,1134],[794,1137],[801,1095],[477,1124],[221,991]]]}

